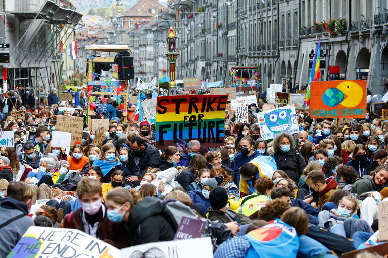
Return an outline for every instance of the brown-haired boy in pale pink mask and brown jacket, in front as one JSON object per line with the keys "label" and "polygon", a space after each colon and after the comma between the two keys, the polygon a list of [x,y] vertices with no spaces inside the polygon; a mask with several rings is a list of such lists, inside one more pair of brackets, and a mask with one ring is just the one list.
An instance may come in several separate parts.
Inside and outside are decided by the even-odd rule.
{"label": "brown-haired boy in pale pink mask and brown jacket, in front", "polygon": [[77,186],[77,196],[82,206],[64,217],[63,227],[109,240],[116,246],[128,246],[127,240],[122,237],[125,234],[123,227],[113,227],[113,223],[107,218],[107,208],[101,202],[101,190],[101,184],[97,180],[82,179]]}

